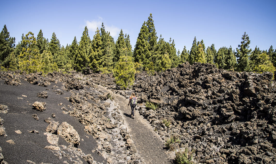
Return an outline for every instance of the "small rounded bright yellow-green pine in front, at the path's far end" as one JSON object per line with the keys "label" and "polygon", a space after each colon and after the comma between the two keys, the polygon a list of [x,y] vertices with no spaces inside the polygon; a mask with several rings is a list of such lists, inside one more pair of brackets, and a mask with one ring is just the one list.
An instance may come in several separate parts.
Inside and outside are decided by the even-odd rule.
{"label": "small rounded bright yellow-green pine in front, at the path's far end", "polygon": [[113,69],[116,84],[124,89],[133,84],[135,73],[134,63],[130,56],[121,56]]}

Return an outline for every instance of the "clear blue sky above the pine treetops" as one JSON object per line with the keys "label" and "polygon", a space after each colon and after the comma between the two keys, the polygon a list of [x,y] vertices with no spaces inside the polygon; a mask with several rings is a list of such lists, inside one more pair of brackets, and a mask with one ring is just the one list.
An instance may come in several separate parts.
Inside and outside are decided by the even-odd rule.
{"label": "clear blue sky above the pine treetops", "polygon": [[96,27],[103,22],[114,41],[120,30],[129,34],[132,49],[136,44],[140,28],[152,13],[158,36],[165,41],[174,39],[176,50],[182,52],[192,47],[194,37],[203,39],[206,48],[215,45],[236,49],[246,32],[251,41],[268,50],[276,48],[276,1],[2,1],[0,28],[4,25],[21,41],[22,34],[29,31],[37,36],[42,29],[43,36],[51,41],[55,32],[61,45],[71,44],[76,36],[79,42],[87,26],[93,39]]}

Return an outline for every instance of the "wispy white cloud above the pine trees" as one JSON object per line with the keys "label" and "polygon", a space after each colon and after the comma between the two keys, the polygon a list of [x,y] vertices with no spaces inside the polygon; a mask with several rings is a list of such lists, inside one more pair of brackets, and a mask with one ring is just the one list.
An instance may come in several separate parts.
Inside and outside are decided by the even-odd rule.
{"label": "wispy white cloud above the pine trees", "polygon": [[[92,31],[96,31],[97,28],[101,28],[102,27],[102,21],[103,18],[102,17],[98,17],[97,20],[92,20],[92,21],[89,21],[87,20],[86,21],[86,26],[87,26],[87,29],[88,30],[92,30]],[[103,23],[104,24],[104,23]],[[105,31],[108,31],[110,32],[110,35],[115,39],[116,36],[118,36],[118,34],[120,33],[120,28],[116,27],[116,26],[109,26],[109,25],[105,25]]]}

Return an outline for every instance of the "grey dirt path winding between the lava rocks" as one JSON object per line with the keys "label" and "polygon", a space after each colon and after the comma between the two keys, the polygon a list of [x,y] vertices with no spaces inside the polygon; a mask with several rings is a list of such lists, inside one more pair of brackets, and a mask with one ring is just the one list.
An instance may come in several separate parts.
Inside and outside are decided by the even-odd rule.
{"label": "grey dirt path winding between the lava rocks", "polygon": [[[101,86],[98,86],[103,92],[109,92]],[[172,163],[166,150],[164,150],[163,140],[155,133],[153,128],[150,126],[147,120],[139,115],[139,111],[135,111],[135,119],[130,117],[131,109],[128,106],[128,99],[125,97],[114,94],[114,101],[117,103],[120,113],[124,119],[124,123],[131,134],[134,145],[136,146],[137,152],[141,158],[143,158],[146,164],[155,163]]]}

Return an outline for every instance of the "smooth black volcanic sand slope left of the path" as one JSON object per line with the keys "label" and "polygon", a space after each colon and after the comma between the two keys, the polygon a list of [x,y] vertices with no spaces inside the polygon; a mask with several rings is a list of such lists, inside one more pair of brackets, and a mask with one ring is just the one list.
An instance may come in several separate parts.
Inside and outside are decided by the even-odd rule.
{"label": "smooth black volcanic sand slope left of the path", "polygon": [[[8,106],[8,113],[0,113],[1,119],[4,119],[4,125],[7,137],[0,137],[0,146],[2,147],[2,155],[4,160],[9,164],[15,163],[30,163],[30,160],[35,163],[74,163],[69,158],[62,157],[59,159],[52,150],[44,149],[45,146],[51,144],[47,142],[47,136],[44,135],[45,129],[49,125],[44,122],[46,118],[52,118],[59,123],[67,122],[74,127],[80,136],[80,143],[77,148],[81,149],[84,154],[91,154],[98,163],[107,163],[106,160],[97,154],[95,150],[97,143],[92,135],[84,132],[84,125],[82,125],[77,118],[70,117],[68,114],[63,114],[61,109],[65,107],[69,109],[72,104],[65,99],[70,97],[71,93],[64,91],[64,95],[58,95],[54,90],[60,89],[63,91],[62,82],[55,84],[51,83],[48,87],[41,87],[32,85],[21,79],[24,85],[11,86],[4,84],[4,80],[0,80],[0,104]],[[47,91],[48,98],[39,98],[37,93]],[[46,102],[47,109],[43,112],[33,109],[32,104],[35,101]],[[62,103],[62,105],[59,105]],[[55,118],[51,117],[55,113]],[[37,114],[39,120],[35,120],[32,115]],[[15,133],[20,130],[22,133]],[[29,131],[36,130],[39,133],[29,133]],[[7,140],[12,139],[14,145],[7,143]],[[59,137],[58,146],[70,146],[67,141]],[[79,156],[83,163],[87,163]],[[72,158],[72,160],[76,160]]]}

